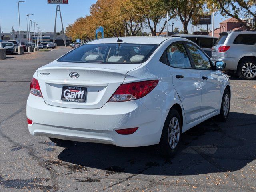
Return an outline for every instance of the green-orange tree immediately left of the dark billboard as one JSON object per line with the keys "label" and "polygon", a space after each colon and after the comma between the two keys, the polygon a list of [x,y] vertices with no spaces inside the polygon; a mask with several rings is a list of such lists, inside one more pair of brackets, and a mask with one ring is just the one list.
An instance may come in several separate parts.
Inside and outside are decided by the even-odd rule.
{"label": "green-orange tree immediately left of the dark billboard", "polygon": [[202,14],[204,0],[172,0],[170,4],[183,24],[184,34],[188,34],[188,23],[193,15]]}

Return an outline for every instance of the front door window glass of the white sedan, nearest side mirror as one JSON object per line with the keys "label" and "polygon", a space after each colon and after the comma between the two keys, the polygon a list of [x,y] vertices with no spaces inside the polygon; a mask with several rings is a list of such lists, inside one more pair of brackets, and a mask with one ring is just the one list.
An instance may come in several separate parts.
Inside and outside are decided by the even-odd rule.
{"label": "front door window glass of the white sedan, nearest side mirror", "polygon": [[187,45],[196,69],[210,70],[211,64],[208,57],[196,46],[192,44],[187,44]]}

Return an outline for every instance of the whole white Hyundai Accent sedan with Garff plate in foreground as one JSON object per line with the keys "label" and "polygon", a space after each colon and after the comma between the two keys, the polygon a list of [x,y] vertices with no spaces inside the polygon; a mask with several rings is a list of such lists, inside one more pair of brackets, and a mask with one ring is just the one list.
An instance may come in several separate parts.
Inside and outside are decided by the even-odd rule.
{"label": "whole white Hyundai Accent sedan with Garff plate in foreground", "polygon": [[36,70],[26,110],[30,134],[59,144],[158,144],[169,157],[186,130],[216,115],[227,120],[224,62],[214,64],[185,38],[122,39],[88,42]]}

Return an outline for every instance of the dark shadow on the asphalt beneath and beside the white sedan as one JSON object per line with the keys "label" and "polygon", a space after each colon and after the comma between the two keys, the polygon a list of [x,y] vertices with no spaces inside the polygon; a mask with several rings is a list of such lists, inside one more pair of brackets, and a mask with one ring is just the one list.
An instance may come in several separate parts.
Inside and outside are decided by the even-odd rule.
{"label": "dark shadow on the asphalt beneath and beside the white sedan", "polygon": [[230,112],[228,122],[207,120],[182,134],[178,154],[164,160],[155,146],[121,148],[74,142],[58,158],[104,170],[150,175],[193,175],[236,171],[256,158],[256,115]]}

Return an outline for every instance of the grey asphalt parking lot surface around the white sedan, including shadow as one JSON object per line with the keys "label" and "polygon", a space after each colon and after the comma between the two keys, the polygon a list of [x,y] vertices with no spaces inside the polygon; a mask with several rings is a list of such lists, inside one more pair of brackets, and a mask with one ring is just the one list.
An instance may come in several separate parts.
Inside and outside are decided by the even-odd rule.
{"label": "grey asphalt parking lot surface around the white sedan, including shadow", "polygon": [[256,191],[256,81],[230,78],[228,121],[213,118],[184,133],[170,160],[154,146],[56,146],[31,136],[26,99],[32,75],[69,50],[0,60],[0,191]]}

